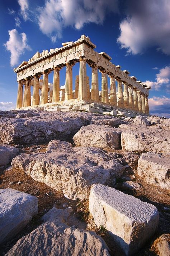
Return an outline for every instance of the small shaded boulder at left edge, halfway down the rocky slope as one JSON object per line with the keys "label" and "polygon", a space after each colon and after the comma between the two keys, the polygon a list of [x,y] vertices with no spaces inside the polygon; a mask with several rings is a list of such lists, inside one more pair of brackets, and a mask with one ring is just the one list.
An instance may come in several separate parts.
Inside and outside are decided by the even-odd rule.
{"label": "small shaded boulder at left edge, halfway down the rocky slope", "polygon": [[18,148],[5,144],[0,145],[0,166],[8,165],[18,153]]}

